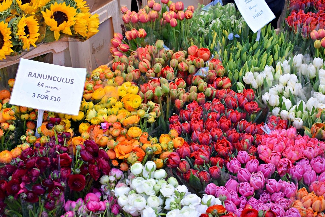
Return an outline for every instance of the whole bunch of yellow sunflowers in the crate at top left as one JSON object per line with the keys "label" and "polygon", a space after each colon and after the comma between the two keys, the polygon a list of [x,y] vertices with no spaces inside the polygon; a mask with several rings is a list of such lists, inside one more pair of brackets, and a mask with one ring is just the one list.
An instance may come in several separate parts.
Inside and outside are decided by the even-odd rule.
{"label": "whole bunch of yellow sunflowers in the crate at top left", "polygon": [[86,40],[98,32],[97,14],[83,0],[4,0],[0,3],[0,60],[63,36]]}

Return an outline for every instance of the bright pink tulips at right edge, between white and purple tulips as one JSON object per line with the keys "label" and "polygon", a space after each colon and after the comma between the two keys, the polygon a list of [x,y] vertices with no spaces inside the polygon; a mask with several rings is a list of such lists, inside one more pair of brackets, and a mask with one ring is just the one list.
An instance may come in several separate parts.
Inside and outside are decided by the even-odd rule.
{"label": "bright pink tulips at right edge, between white and purple tulips", "polygon": [[[324,148],[324,142],[308,136],[297,136],[296,129],[292,127],[263,135],[257,152],[261,160],[275,165],[282,177],[289,173],[295,161],[305,158],[313,161],[317,156],[323,156]],[[324,158],[319,159],[325,161]]]}

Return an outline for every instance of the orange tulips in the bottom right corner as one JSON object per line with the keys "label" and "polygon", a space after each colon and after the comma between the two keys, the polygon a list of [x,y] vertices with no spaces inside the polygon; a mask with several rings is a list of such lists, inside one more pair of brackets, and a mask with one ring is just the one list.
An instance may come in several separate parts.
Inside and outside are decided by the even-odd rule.
{"label": "orange tulips in the bottom right corner", "polygon": [[325,199],[324,196],[317,196],[314,192],[308,193],[305,188],[299,189],[297,200],[292,204],[297,208],[302,217],[324,216]]}

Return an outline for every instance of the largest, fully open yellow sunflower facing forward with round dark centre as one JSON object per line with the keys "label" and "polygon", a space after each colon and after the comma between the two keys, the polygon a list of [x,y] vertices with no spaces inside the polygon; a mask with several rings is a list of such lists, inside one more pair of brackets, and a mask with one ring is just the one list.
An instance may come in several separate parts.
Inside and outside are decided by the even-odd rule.
{"label": "largest, fully open yellow sunflower facing forward with round dark centre", "polygon": [[76,9],[66,6],[65,3],[51,5],[50,10],[42,11],[45,24],[54,32],[55,40],[59,40],[60,31],[72,36],[70,27],[74,25],[76,16]]}

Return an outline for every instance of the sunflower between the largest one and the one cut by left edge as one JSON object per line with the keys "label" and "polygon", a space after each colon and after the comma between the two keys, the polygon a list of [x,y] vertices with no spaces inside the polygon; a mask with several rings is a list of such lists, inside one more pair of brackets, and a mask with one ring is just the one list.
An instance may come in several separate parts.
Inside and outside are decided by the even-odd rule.
{"label": "sunflower between the largest one and the one cut by left edge", "polygon": [[22,17],[18,22],[18,32],[19,40],[23,42],[23,49],[29,51],[29,47],[32,45],[36,47],[35,42],[38,40],[40,34],[38,33],[39,26],[37,20],[34,16]]}

